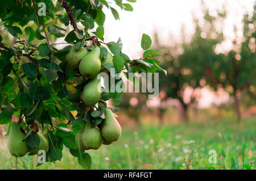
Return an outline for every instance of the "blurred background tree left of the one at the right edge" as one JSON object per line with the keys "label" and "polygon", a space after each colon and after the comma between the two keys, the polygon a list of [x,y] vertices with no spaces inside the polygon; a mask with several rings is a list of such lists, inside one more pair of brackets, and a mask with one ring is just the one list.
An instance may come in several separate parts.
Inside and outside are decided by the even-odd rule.
{"label": "blurred background tree left of the one at the right edge", "polygon": [[[160,91],[166,94],[163,100],[179,100],[184,121],[188,120],[189,106],[196,103],[199,97],[196,90],[204,87],[204,82],[208,79],[215,80],[213,75],[218,77],[217,73],[213,74],[218,60],[214,46],[221,43],[223,35],[221,30],[216,29],[216,23],[225,18],[225,12],[217,11],[217,17],[211,16],[208,9],[203,9],[203,12],[204,26],[200,26],[199,19],[194,18],[195,33],[189,42],[185,41],[186,35],[183,31],[181,43],[174,43],[172,46],[160,45],[156,38],[154,44],[154,48],[161,54],[159,61],[168,71],[167,77],[159,78]],[[215,82],[212,83],[216,85]],[[192,89],[192,94],[190,100],[185,102],[184,94],[187,87]]]}

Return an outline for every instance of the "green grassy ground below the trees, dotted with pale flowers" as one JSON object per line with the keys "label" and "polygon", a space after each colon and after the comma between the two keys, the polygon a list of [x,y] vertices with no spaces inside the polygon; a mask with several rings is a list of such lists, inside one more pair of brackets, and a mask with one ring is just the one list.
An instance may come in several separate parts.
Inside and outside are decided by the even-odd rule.
{"label": "green grassy ground below the trees, dotted with pale flowers", "polygon": [[[90,150],[92,169],[255,169],[256,117],[123,128],[112,145]],[[216,150],[217,163],[209,163]],[[61,162],[36,167],[36,156],[11,157],[0,139],[0,169],[82,169],[67,149]]]}

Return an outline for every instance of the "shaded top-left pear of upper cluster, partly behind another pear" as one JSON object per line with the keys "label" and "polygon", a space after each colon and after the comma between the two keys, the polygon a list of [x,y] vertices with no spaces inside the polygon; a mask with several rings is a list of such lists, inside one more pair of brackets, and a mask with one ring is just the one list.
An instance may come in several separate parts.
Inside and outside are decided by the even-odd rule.
{"label": "shaded top-left pear of upper cluster, partly behind another pear", "polygon": [[66,55],[67,65],[73,69],[78,68],[79,61],[82,60],[86,54],[88,54],[86,48],[71,48],[71,50]]}

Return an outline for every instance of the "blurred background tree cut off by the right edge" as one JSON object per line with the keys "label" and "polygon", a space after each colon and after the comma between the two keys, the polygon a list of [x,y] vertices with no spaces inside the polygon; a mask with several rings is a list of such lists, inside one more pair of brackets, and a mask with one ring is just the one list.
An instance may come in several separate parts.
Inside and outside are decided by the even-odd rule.
{"label": "blurred background tree cut off by the right edge", "polygon": [[[221,85],[234,98],[238,121],[241,120],[239,99],[242,92],[246,92],[255,101],[254,87],[256,85],[256,53],[255,53],[255,26],[256,4],[252,15],[243,16],[242,39],[236,37],[233,47],[227,54],[220,54],[219,65],[216,72],[220,77]],[[234,28],[235,32],[237,31]]]}

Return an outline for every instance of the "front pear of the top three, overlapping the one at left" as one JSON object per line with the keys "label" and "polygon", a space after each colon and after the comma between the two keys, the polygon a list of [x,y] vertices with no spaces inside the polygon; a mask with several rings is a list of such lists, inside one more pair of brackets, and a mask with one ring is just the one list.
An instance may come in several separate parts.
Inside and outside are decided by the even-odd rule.
{"label": "front pear of the top three, overlapping the one at left", "polygon": [[79,71],[86,78],[94,78],[101,70],[100,48],[91,50],[79,63]]}

